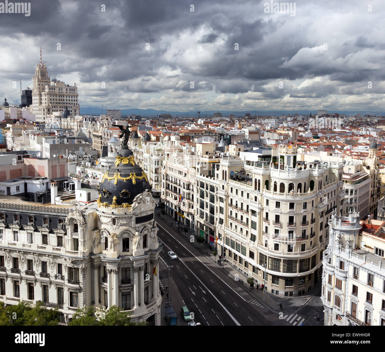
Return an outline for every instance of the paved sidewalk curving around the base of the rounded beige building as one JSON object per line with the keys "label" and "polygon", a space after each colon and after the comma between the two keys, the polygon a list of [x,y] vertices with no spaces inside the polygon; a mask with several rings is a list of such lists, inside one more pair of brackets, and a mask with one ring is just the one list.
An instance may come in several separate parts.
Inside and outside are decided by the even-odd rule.
{"label": "paved sidewalk curving around the base of the rounded beige building", "polygon": [[[167,215],[165,216],[164,220],[163,220],[163,216],[161,214],[156,216],[155,219],[165,229],[167,229],[167,230],[171,230],[171,229],[174,230],[173,232],[178,233],[181,238],[185,238],[185,235],[186,235],[186,240],[190,244],[194,245],[194,247],[196,247],[196,249],[198,249],[203,255],[205,254],[205,252],[209,252],[209,244],[202,243],[198,247],[196,244],[191,243],[189,241],[190,236],[194,235],[194,234],[191,234],[190,232],[187,232],[187,233],[177,232],[176,228],[175,228],[175,220],[172,220]],[[171,227],[171,221],[173,222],[173,226],[172,227]],[[216,260],[214,259],[213,256],[209,256],[208,258],[210,260],[212,260],[216,264]],[[218,255],[217,255],[216,258],[218,259]],[[218,265],[218,264],[216,264],[216,265]],[[222,265],[220,267],[218,265],[218,268],[222,269]],[[225,274],[227,274],[232,279],[234,279],[235,275],[238,275],[238,277],[240,279],[243,279],[243,281],[245,282],[245,285],[242,285],[240,283],[238,283],[238,285],[240,287],[243,287],[245,290],[247,290],[247,292],[250,295],[252,295],[255,299],[257,299],[263,305],[265,305],[266,308],[268,308],[271,312],[276,313],[276,314],[279,314],[280,312],[282,312],[282,310],[280,310],[280,303],[282,303],[282,305],[283,305],[283,312],[284,312],[284,314],[295,314],[295,313],[297,313],[306,303],[308,303],[310,301],[310,299],[319,290],[319,286],[318,286],[319,283],[318,283],[318,284],[316,284],[315,287],[312,287],[312,289],[309,292],[307,292],[306,295],[296,296],[296,297],[282,297],[282,296],[274,295],[274,294],[272,294],[271,292],[268,292],[268,291],[266,292],[266,294],[263,294],[263,290],[255,289],[255,285],[256,284],[254,284],[254,289],[251,289],[251,292],[250,292],[250,285],[246,283],[246,280],[247,280],[248,276],[246,274],[244,274],[243,272],[241,272],[241,270],[239,270],[238,268],[236,268],[235,266],[233,266],[229,262],[224,262],[224,267],[223,267],[222,270],[223,270],[223,272]],[[258,284],[259,285],[263,284],[263,281],[262,282],[258,282]],[[264,302],[263,302],[263,296],[265,296],[264,297]]]}

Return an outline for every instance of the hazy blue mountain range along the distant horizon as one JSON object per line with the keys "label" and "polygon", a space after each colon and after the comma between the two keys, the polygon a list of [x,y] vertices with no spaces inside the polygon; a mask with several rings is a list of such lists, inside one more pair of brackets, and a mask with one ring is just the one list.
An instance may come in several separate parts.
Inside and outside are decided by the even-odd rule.
{"label": "hazy blue mountain range along the distant horizon", "polygon": [[[209,111],[201,111],[201,117],[207,116],[213,116],[214,112],[218,112],[218,110],[209,110]],[[258,111],[258,110],[244,110],[244,111],[233,111],[233,110],[219,110],[219,112],[222,113],[224,117],[234,114],[236,117],[243,117],[245,113],[249,113],[252,116],[253,115],[260,115],[260,116],[280,116],[280,115],[294,115],[295,113],[298,113],[298,115],[310,115],[310,112],[312,115],[315,115],[317,113],[316,110],[309,111],[309,110],[271,110],[271,111]],[[361,115],[377,115],[377,116],[385,116],[385,112],[376,112],[376,111],[362,111],[362,110],[328,110],[330,113],[339,113],[339,114],[345,114],[347,116],[350,115],[357,115],[357,113],[361,113]],[[187,117],[187,111],[166,111],[166,110],[154,110],[154,109],[122,109],[122,116],[128,116],[131,114],[134,115],[141,115],[142,117],[156,117],[160,113],[170,113],[172,116],[180,116],[180,117]],[[80,107],[80,115],[105,115],[106,109],[102,108],[94,108],[94,107]],[[196,111],[189,111],[188,116],[190,117],[198,117],[198,113]]]}

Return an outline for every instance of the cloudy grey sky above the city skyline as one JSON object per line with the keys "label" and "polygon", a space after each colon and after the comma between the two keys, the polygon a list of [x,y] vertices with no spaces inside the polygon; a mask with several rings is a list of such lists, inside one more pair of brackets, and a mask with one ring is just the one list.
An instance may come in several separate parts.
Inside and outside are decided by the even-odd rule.
{"label": "cloudy grey sky above the city skyline", "polygon": [[80,107],[385,110],[381,0],[265,4],[32,0],[29,17],[0,13],[0,94],[20,102],[41,45]]}

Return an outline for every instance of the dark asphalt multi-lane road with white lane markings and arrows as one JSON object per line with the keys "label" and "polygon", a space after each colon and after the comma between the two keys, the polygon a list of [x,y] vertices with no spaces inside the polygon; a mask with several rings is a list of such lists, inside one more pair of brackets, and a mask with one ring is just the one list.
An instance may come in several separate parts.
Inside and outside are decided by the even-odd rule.
{"label": "dark asphalt multi-lane road with white lane markings and arrows", "polygon": [[[188,324],[180,314],[184,305],[194,313],[194,321],[202,325],[287,325],[262,307],[261,302],[224,273],[218,264],[202,255],[175,230],[163,225],[158,222],[158,238],[163,245],[159,275],[166,286],[168,266],[173,266],[169,293],[181,325]],[[170,250],[177,259],[168,257]],[[166,300],[166,294],[163,299]]]}

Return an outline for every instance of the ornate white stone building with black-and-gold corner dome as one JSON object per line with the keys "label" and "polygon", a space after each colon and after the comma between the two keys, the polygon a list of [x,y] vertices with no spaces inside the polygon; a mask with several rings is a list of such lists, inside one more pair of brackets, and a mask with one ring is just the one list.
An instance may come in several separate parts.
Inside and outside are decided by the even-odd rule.
{"label": "ornate white stone building with black-and-gold corner dome", "polygon": [[97,202],[71,209],[0,203],[0,301],[57,307],[62,323],[79,307],[116,305],[134,321],[160,325],[161,248],[149,190],[125,146],[103,175]]}

